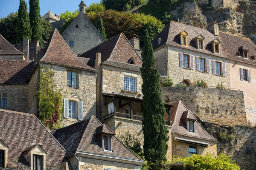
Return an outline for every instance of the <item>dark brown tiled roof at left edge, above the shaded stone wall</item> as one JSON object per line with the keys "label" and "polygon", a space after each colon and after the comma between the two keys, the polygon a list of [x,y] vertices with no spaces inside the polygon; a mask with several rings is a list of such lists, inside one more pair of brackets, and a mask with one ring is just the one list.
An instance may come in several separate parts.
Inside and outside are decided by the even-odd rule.
{"label": "dark brown tiled roof at left edge, above the shaded stone wall", "polygon": [[27,83],[33,68],[31,60],[0,59],[0,84]]}

